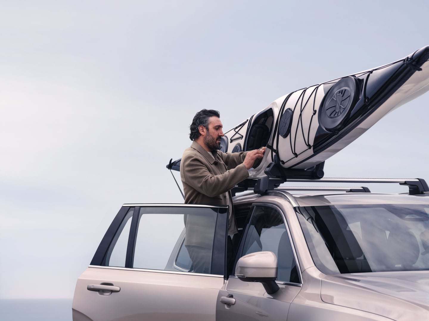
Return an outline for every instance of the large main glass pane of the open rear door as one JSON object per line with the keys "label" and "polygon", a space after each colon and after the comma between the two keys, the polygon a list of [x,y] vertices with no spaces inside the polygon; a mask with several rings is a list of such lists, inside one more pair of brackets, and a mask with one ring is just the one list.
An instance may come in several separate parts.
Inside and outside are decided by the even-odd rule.
{"label": "large main glass pane of the open rear door", "polygon": [[211,274],[217,216],[212,208],[142,208],[133,268]]}

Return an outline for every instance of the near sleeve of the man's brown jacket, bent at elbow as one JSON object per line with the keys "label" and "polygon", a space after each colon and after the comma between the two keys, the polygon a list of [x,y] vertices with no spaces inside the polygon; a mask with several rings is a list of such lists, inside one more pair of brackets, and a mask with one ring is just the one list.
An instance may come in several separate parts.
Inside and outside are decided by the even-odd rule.
{"label": "near sleeve of the man's brown jacket, bent at elbow", "polygon": [[186,184],[209,197],[226,193],[236,184],[249,177],[249,172],[243,164],[224,172],[224,174],[214,175],[202,160],[192,155],[185,156],[181,166],[184,166],[183,175]]}

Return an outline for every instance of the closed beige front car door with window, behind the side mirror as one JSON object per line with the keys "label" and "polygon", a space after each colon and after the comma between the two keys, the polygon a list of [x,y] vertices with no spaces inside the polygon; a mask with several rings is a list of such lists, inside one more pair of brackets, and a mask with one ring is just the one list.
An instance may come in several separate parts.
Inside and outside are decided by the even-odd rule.
{"label": "closed beige front car door with window, behind the side mirror", "polygon": [[216,320],[286,320],[290,303],[302,287],[302,277],[292,244],[281,209],[271,204],[255,205],[237,251],[236,261],[249,253],[273,252],[278,258],[276,282],[280,289],[267,294],[262,283],[245,282],[232,275],[219,292]]}

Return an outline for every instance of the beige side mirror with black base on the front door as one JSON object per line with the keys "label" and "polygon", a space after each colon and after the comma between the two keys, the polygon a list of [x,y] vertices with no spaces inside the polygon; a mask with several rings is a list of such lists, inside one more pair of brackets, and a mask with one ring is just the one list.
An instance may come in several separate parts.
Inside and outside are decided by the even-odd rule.
{"label": "beige side mirror with black base on the front door", "polygon": [[236,276],[246,282],[261,282],[268,294],[278,291],[277,257],[270,251],[250,253],[237,262]]}

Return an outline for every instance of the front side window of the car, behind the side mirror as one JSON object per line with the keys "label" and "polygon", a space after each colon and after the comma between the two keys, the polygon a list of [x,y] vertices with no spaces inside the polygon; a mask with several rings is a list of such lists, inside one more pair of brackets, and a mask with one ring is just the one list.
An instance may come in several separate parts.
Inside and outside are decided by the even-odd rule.
{"label": "front side window of the car, behind the side mirror", "polygon": [[299,283],[289,235],[275,208],[257,206],[252,214],[242,256],[259,251],[271,251],[277,256],[278,281]]}

